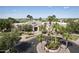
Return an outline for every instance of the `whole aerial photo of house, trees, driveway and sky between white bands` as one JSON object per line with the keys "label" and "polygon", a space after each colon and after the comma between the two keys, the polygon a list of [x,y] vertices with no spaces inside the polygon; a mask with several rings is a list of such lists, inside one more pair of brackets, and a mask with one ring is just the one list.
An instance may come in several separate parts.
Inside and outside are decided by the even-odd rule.
{"label": "whole aerial photo of house, trees, driveway and sky between white bands", "polygon": [[0,53],[79,53],[79,7],[0,6]]}

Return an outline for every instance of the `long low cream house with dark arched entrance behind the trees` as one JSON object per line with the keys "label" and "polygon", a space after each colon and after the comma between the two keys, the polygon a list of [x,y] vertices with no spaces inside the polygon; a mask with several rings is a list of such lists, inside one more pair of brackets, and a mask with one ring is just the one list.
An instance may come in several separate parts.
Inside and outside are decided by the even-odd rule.
{"label": "long low cream house with dark arched entrance behind the trees", "polygon": [[[51,25],[55,24],[56,22],[52,22]],[[59,25],[66,27],[67,23],[64,22],[57,22]],[[41,21],[29,21],[25,23],[14,23],[14,28],[18,28],[19,25],[32,25],[33,31],[39,31],[39,26],[46,24],[46,29],[49,30],[49,22],[41,22]]]}

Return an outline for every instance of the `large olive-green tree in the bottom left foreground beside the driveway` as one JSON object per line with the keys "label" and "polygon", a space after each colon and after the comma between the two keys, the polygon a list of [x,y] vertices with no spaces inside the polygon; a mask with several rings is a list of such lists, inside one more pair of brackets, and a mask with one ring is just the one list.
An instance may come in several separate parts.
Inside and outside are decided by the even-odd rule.
{"label": "large olive-green tree in the bottom left foreground beside the driveway", "polygon": [[14,46],[20,40],[18,32],[6,33],[0,38],[0,50],[12,52]]}

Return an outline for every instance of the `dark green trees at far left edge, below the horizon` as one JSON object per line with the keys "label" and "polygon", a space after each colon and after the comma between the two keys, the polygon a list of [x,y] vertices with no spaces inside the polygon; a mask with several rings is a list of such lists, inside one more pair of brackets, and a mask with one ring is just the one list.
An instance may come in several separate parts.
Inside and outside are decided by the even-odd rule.
{"label": "dark green trees at far left edge, below the horizon", "polygon": [[9,17],[8,19],[0,20],[0,31],[11,31],[12,24],[17,22],[16,19]]}

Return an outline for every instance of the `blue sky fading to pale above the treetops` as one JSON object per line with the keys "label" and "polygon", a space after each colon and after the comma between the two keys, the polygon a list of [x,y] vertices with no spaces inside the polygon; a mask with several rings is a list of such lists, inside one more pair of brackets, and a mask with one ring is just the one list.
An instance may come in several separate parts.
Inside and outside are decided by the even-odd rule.
{"label": "blue sky fading to pale above the treetops", "polygon": [[46,18],[56,15],[57,18],[79,18],[79,6],[0,6],[0,18]]}

